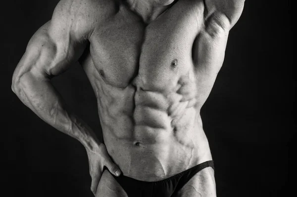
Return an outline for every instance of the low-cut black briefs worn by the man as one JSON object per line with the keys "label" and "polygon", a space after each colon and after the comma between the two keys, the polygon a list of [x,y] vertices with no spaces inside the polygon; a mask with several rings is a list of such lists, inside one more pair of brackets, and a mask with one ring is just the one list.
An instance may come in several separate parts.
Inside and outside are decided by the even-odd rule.
{"label": "low-cut black briefs worn by the man", "polygon": [[171,197],[174,191],[179,191],[195,174],[206,167],[214,169],[213,161],[205,161],[179,174],[153,182],[139,181],[124,175],[113,177],[128,197]]}

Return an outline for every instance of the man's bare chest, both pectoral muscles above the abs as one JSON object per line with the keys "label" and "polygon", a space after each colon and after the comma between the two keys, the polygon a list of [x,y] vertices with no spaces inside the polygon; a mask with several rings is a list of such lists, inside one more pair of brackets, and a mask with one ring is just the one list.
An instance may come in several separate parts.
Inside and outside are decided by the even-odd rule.
{"label": "man's bare chest, both pectoral muscles above the abs", "polygon": [[121,7],[90,39],[95,75],[121,88],[134,84],[158,91],[176,84],[193,69],[192,48],[200,28],[199,4],[193,2],[178,1],[148,25]]}

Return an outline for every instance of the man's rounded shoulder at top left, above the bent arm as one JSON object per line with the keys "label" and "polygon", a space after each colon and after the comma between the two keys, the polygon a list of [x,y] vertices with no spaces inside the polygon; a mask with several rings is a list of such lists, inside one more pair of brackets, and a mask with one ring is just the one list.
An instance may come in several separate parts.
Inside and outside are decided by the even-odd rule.
{"label": "man's rounded shoulder at top left, above the bent arm", "polygon": [[89,35],[98,23],[116,11],[114,0],[60,0],[51,18],[51,27]]}

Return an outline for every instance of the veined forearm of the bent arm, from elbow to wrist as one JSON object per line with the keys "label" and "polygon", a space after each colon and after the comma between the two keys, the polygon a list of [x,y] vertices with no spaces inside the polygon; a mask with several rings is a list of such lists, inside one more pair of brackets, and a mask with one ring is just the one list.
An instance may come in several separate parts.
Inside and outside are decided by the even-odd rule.
{"label": "veined forearm of the bent arm, from elbow to wrist", "polygon": [[93,130],[67,109],[49,79],[26,72],[15,78],[12,89],[27,107],[57,130],[79,140],[88,149],[99,145]]}

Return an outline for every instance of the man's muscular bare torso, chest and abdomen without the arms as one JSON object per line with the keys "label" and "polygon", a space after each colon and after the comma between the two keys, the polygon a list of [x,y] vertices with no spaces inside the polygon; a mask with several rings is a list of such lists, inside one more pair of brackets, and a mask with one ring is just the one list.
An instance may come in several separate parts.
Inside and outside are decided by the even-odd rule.
{"label": "man's muscular bare torso, chest and abdomen without the arms", "polygon": [[98,98],[103,139],[123,174],[156,181],[211,160],[192,49],[203,1],[179,0],[144,24],[125,4],[90,37],[81,61]]}

